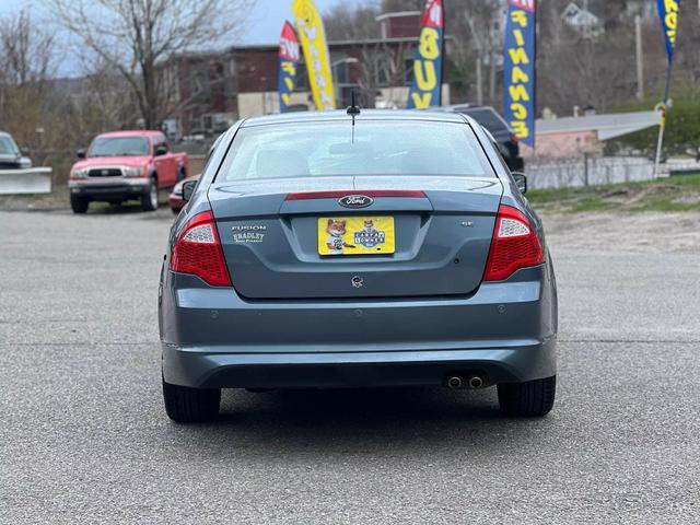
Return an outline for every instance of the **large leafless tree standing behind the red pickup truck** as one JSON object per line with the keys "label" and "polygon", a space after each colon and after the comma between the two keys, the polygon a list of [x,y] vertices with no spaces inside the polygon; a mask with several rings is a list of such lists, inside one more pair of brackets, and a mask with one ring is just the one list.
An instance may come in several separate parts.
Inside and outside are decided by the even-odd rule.
{"label": "large leafless tree standing behind the red pickup truck", "polygon": [[147,128],[167,101],[159,67],[173,55],[226,44],[252,0],[47,0],[83,48],[127,81]]}

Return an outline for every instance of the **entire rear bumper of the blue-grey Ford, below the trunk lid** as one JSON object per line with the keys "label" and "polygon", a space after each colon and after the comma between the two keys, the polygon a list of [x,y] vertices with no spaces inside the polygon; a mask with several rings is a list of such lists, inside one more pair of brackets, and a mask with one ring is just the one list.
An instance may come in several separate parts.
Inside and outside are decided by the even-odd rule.
{"label": "entire rear bumper of the blue-grey Ford, below the trunk lid", "polygon": [[556,373],[557,300],[547,266],[470,296],[246,301],[164,271],[163,375],[192,387],[487,384]]}

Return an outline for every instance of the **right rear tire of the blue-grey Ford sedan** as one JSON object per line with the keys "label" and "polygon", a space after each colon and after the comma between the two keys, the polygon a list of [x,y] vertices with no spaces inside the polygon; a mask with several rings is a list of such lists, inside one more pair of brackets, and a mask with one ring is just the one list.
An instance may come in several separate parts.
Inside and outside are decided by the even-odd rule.
{"label": "right rear tire of the blue-grey Ford sedan", "polygon": [[555,406],[557,376],[498,386],[501,411],[520,418],[541,418]]}

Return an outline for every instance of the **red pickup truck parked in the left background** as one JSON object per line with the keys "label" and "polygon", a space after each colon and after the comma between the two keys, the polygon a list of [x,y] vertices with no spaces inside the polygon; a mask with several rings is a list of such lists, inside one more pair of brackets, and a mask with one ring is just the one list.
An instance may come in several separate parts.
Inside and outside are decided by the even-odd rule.
{"label": "red pickup truck parked in the left background", "polygon": [[117,131],[97,136],[70,171],[68,187],[74,213],[92,201],[119,205],[140,200],[145,211],[158,208],[159,190],[187,177],[187,153],[171,152],[160,131]]}

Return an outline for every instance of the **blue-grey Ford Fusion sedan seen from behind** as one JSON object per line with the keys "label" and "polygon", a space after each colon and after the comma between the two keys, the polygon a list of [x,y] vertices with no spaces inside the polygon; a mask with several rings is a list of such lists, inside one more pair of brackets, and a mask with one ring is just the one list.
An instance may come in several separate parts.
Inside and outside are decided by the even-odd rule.
{"label": "blue-grey Ford Fusion sedan seen from behind", "polygon": [[398,385],[495,385],[505,415],[548,413],[557,289],[524,183],[459,114],[237,122],[171,232],[167,415],[211,419],[222,388]]}

